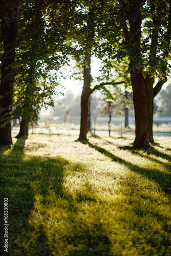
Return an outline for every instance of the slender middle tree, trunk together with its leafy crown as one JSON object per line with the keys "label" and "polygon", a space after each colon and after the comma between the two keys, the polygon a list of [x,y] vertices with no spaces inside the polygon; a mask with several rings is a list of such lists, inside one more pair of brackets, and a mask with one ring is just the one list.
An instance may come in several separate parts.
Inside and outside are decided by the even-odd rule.
{"label": "slender middle tree, trunk together with its leafy crown", "polygon": [[63,49],[79,62],[82,69],[83,88],[81,94],[81,121],[78,140],[87,140],[89,123],[89,98],[100,86],[92,86],[91,59],[98,46],[98,27],[101,25],[103,1],[80,1],[73,10],[70,25],[66,28]]}

